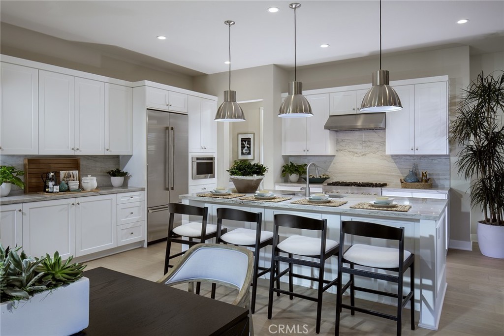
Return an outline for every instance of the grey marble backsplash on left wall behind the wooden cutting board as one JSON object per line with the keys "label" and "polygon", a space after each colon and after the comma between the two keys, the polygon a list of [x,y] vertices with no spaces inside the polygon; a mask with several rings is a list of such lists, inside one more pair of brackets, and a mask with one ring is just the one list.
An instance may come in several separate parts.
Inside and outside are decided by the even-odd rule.
{"label": "grey marble backsplash on left wall behind the wooden cutting board", "polygon": [[[24,159],[27,156],[24,155],[2,155],[0,157],[0,164],[6,166],[14,166],[18,169],[23,170]],[[30,158],[35,156],[29,156]],[[75,158],[77,156],[64,156],[64,155],[37,155],[37,158]],[[119,156],[118,155],[84,155],[78,156],[81,159],[81,171],[80,178],[82,176],[92,175],[96,177],[96,183],[98,188],[111,187],[110,176],[105,173],[108,170],[119,168]],[[23,178],[23,176],[21,176]],[[79,179],[80,179],[79,178]],[[10,195],[15,195],[23,193],[18,187],[12,187]]]}

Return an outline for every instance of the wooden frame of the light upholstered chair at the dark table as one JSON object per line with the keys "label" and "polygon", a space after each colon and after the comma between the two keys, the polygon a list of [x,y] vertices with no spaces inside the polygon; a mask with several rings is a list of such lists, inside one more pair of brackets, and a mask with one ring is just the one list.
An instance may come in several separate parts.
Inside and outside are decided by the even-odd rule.
{"label": "wooden frame of the light upholstered chair at the dark table", "polygon": [[[230,284],[229,282],[223,281],[223,278],[217,278],[217,277],[211,277],[208,274],[205,274],[205,271],[197,272],[197,276],[191,276],[189,277],[182,277],[181,279],[178,279],[176,281],[171,281],[172,278],[179,276],[179,272],[183,272],[183,268],[187,267],[188,264],[190,264],[190,258],[195,254],[201,251],[202,249],[221,249],[221,250],[228,250],[228,251],[233,251],[233,252],[240,252],[246,255],[247,257],[247,273],[244,277],[243,283],[240,286],[235,286],[233,284]],[[238,294],[236,295],[236,298],[233,300],[231,304],[235,306],[240,306],[248,309],[250,312],[250,285],[252,283],[253,279],[253,268],[254,268],[254,253],[251,251],[247,250],[244,247],[240,246],[234,246],[234,245],[223,245],[223,244],[212,244],[212,243],[197,243],[191,248],[189,248],[185,254],[180,258],[178,263],[174,265],[170,272],[165,274],[161,279],[157,281],[157,283],[160,284],[165,284],[167,286],[174,286],[177,284],[183,284],[183,283],[189,283],[190,286],[188,288],[189,292],[193,292],[194,290],[194,283],[200,283],[200,282],[207,282],[207,283],[217,283],[226,287],[234,288],[238,290]],[[215,262],[225,262],[225,260],[215,260]],[[200,270],[200,268],[195,267],[194,270]],[[249,313],[249,334],[251,336],[254,335],[254,323],[252,321],[252,316],[251,313]]]}

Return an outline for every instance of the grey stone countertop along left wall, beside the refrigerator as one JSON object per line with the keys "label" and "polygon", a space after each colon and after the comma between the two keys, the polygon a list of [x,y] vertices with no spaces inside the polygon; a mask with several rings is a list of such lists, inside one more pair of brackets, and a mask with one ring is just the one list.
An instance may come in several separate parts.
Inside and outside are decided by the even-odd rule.
{"label": "grey stone countertop along left wall, beside the refrigerator", "polygon": [[123,193],[132,191],[144,191],[145,187],[99,187],[99,191],[93,192],[72,192],[72,193],[55,193],[55,194],[41,194],[36,192],[30,192],[19,195],[4,196],[0,198],[1,205],[16,204],[16,203],[27,203],[27,202],[37,202],[39,200],[51,200],[51,199],[64,199],[64,198],[74,198],[74,197],[86,197],[86,196],[96,196],[96,195],[106,195],[111,193]]}

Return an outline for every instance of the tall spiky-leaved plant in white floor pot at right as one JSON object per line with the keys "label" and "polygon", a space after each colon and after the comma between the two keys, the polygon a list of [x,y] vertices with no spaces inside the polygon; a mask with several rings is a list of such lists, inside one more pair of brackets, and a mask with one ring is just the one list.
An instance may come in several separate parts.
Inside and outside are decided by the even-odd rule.
{"label": "tall spiky-leaved plant in white floor pot at right", "polygon": [[471,206],[479,207],[481,253],[504,258],[504,71],[495,78],[483,73],[465,89],[452,139],[461,150],[458,173],[471,181]]}

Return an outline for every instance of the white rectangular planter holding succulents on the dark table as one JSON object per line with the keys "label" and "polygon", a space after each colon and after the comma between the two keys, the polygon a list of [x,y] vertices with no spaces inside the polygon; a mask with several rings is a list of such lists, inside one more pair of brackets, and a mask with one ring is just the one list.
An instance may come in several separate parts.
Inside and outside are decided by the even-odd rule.
{"label": "white rectangular planter holding succulents on the dark table", "polygon": [[2,335],[71,335],[89,324],[89,279],[0,305]]}

